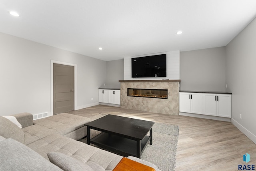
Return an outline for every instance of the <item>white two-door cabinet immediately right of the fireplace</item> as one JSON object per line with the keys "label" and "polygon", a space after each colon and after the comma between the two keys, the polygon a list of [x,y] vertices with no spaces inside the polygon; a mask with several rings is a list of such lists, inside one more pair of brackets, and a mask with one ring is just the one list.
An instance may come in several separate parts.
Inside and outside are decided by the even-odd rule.
{"label": "white two-door cabinet immediately right of the fireplace", "polygon": [[203,114],[203,93],[180,92],[180,112]]}

